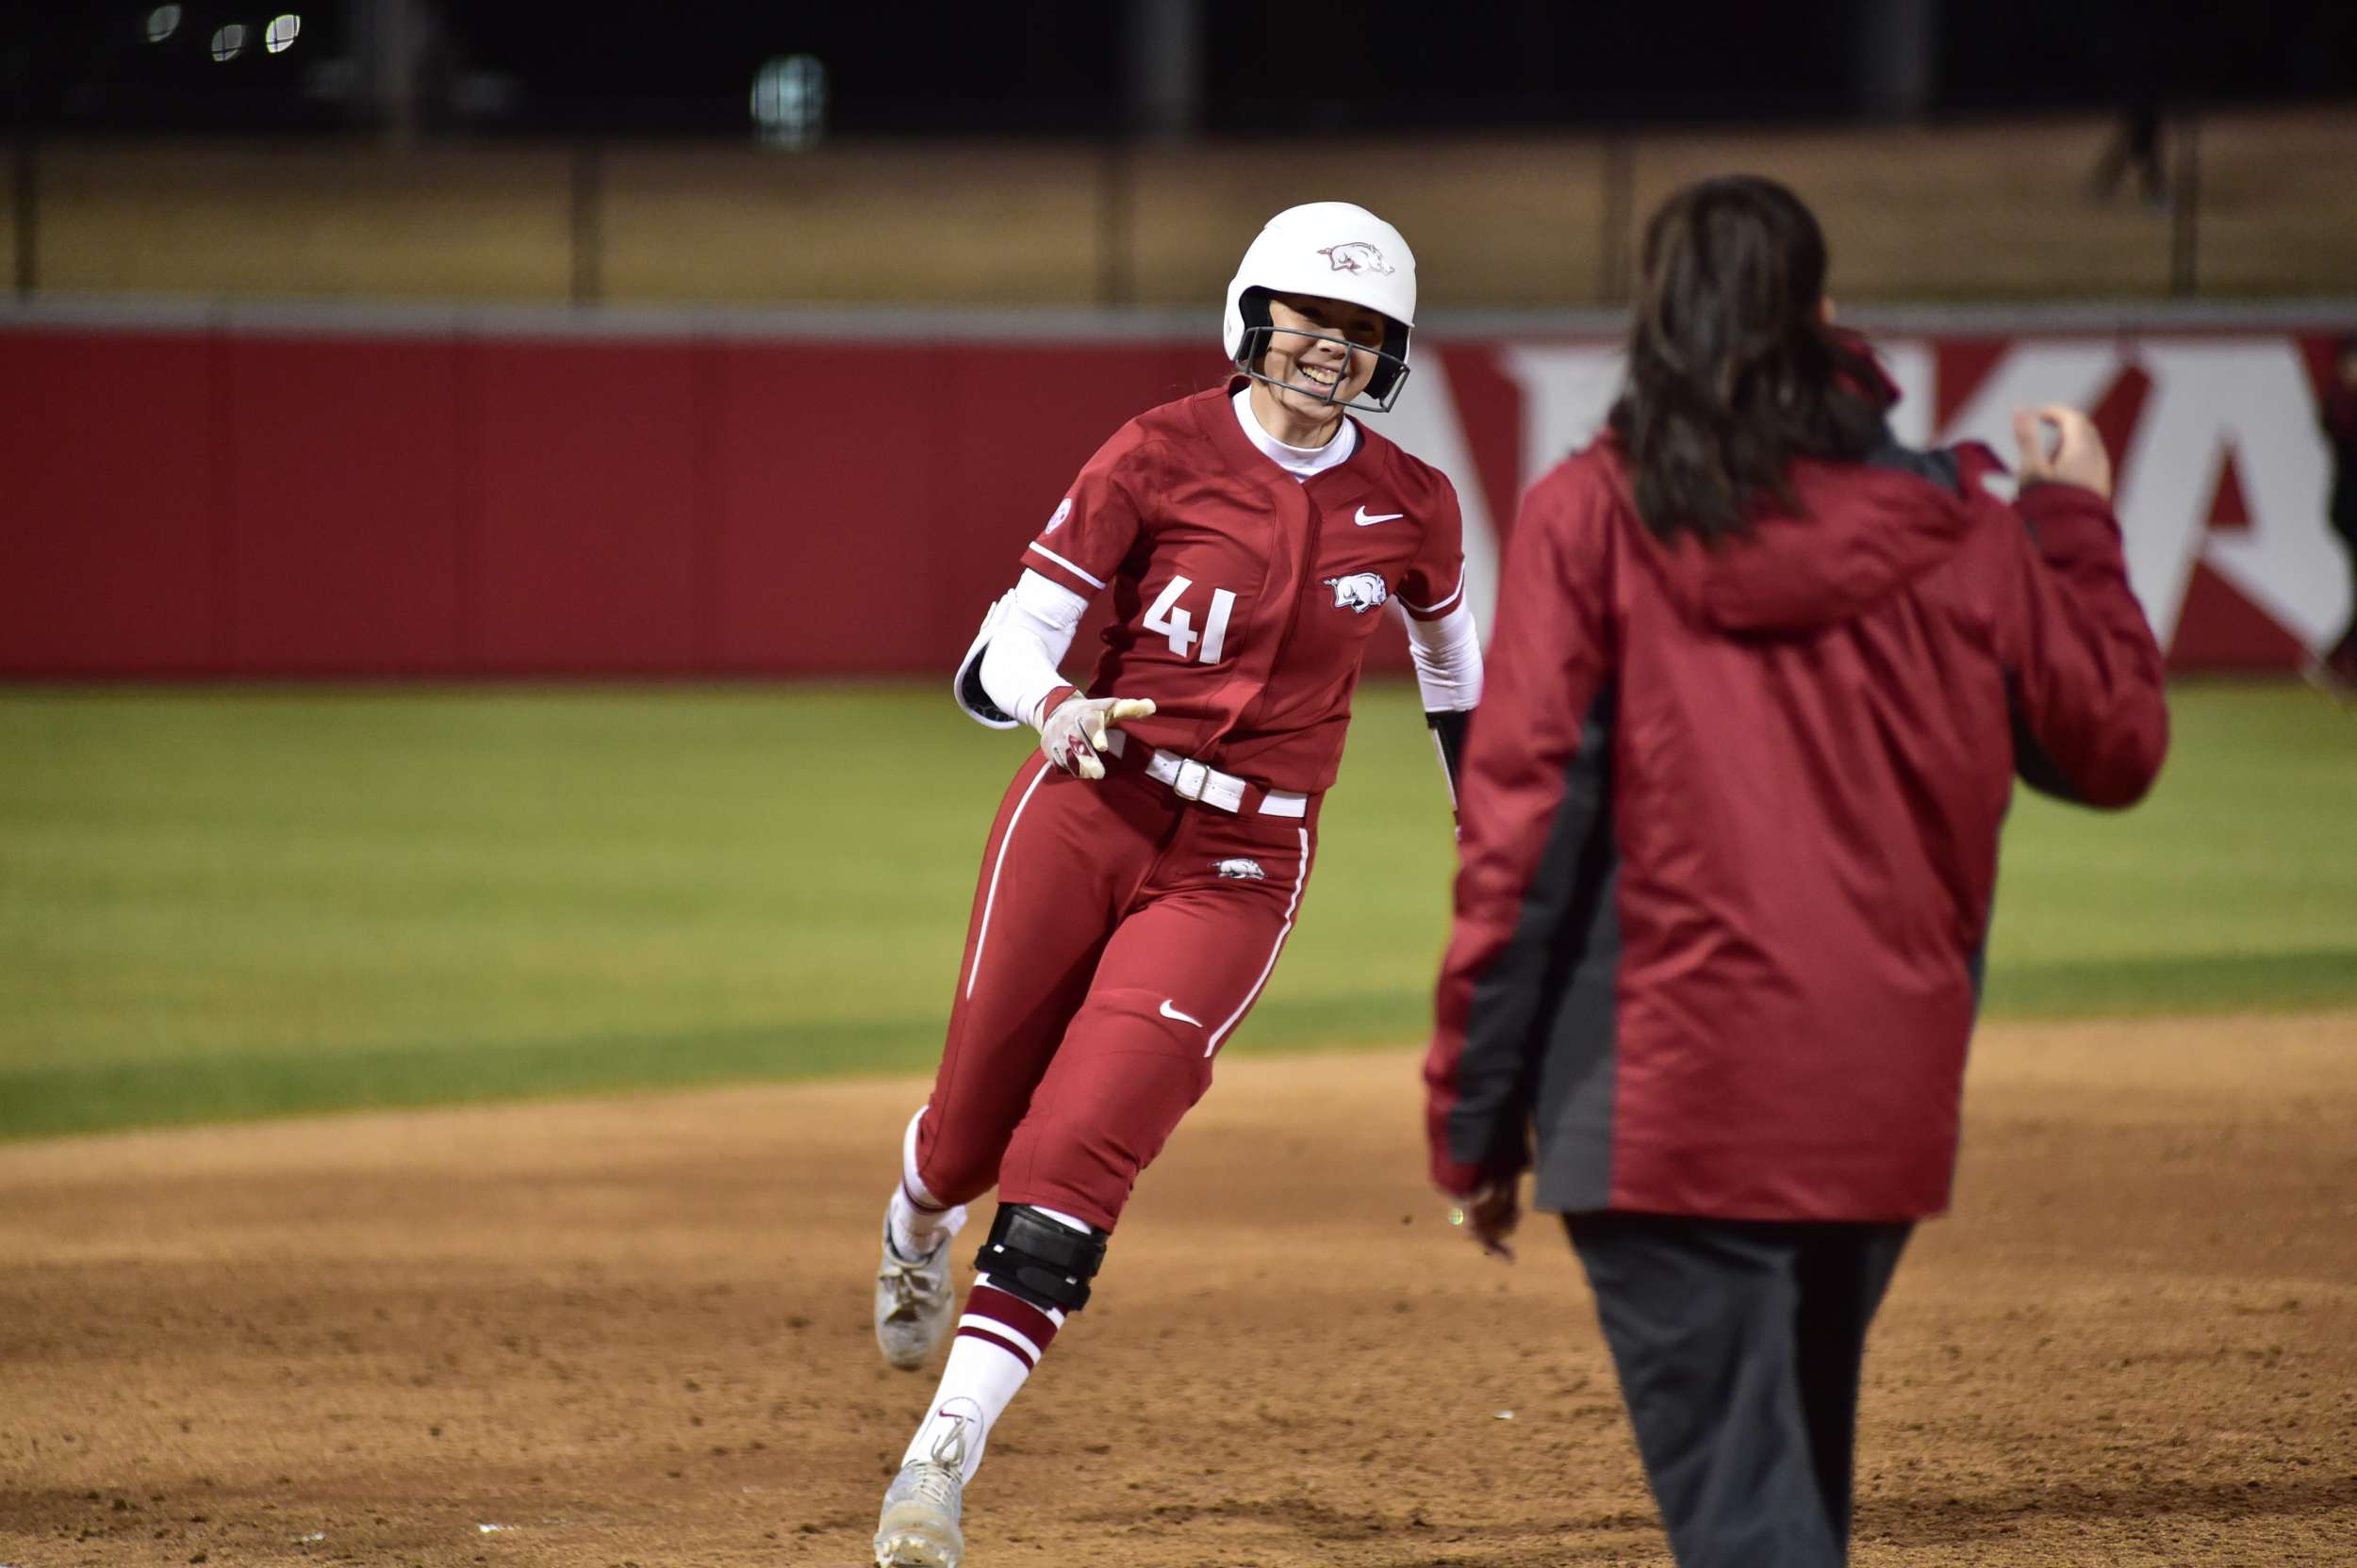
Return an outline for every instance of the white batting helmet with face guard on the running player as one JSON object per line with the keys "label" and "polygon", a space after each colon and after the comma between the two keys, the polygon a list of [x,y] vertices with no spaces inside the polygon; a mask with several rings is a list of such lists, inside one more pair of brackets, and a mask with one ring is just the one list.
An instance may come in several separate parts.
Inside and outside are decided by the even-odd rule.
{"label": "white batting helmet with face guard on the running player", "polygon": [[1266,379],[1259,363],[1268,346],[1270,294],[1343,299],[1381,313],[1388,325],[1367,379],[1372,403],[1351,407],[1381,412],[1393,405],[1407,381],[1407,334],[1417,325],[1417,252],[1398,228],[1351,202],[1306,202],[1268,219],[1228,280],[1221,334],[1228,358],[1254,379]]}

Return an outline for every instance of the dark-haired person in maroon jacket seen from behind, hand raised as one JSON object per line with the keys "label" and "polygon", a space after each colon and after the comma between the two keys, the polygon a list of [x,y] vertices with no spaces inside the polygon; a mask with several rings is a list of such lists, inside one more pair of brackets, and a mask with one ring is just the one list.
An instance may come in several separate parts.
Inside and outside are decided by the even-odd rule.
{"label": "dark-haired person in maroon jacket seen from behind, hand raised", "polygon": [[1537,1132],[1685,1568],[1846,1561],[2013,779],[2128,805],[2168,739],[2093,426],[2018,414],[2015,504],[1985,447],[1900,447],[1824,266],[1765,179],[1650,221],[1610,431],[1508,542],[1426,1059],[1485,1250]]}

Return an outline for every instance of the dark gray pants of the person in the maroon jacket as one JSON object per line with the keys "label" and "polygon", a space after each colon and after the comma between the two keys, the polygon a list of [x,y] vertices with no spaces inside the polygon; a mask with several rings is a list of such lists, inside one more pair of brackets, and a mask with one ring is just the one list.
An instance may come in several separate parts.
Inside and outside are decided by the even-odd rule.
{"label": "dark gray pants of the person in the maroon jacket", "polygon": [[1912,1224],[1565,1215],[1681,1568],[1838,1568],[1867,1326]]}

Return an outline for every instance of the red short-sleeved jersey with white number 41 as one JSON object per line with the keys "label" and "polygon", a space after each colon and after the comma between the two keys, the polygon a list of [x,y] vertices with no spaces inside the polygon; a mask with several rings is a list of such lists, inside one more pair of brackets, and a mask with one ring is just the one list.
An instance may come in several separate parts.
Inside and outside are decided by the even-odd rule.
{"label": "red short-sleeved jersey with white number 41", "polygon": [[1296,480],[1244,436],[1237,386],[1115,431],[1023,565],[1082,598],[1113,591],[1089,692],[1153,697],[1129,735],[1315,793],[1384,605],[1438,619],[1464,596],[1457,490],[1365,424],[1348,459]]}

